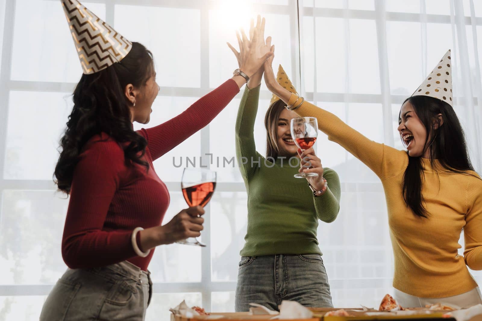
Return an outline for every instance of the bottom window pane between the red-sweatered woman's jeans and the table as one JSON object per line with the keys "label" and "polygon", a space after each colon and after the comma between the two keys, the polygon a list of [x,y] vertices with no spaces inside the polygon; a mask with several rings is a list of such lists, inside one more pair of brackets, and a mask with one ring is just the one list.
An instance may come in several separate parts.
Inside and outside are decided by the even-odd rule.
{"label": "bottom window pane between the red-sweatered woman's jeans and the table", "polygon": [[189,307],[201,307],[201,293],[155,293],[147,308],[146,321],[171,321],[169,309],[176,307],[182,300],[186,300]]}

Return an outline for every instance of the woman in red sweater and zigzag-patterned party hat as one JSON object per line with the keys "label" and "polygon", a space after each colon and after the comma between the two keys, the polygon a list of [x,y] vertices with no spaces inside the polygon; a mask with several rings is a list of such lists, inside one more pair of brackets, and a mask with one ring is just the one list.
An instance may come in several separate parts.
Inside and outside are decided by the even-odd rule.
{"label": "woman in red sweater and zigzag-patterned party hat", "polygon": [[152,162],[213,120],[271,54],[248,51],[241,73],[173,119],[134,132],[159,92],[152,54],[77,0],[62,5],[83,75],[55,167],[59,190],[70,195],[62,239],[69,268],[40,320],[143,320],[154,248],[199,236],[204,213],[187,208],[161,226],[169,192]]}

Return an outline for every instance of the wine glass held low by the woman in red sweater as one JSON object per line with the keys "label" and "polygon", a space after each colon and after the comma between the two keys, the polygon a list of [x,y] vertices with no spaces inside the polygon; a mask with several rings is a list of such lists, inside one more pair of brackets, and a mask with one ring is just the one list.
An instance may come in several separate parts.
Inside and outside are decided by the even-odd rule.
{"label": "wine glass held low by the woman in red sweater", "polygon": [[[216,187],[216,172],[206,168],[185,168],[182,173],[181,188],[182,195],[189,207],[204,207],[214,193]],[[206,246],[196,238],[187,238],[176,243],[187,245]]]}

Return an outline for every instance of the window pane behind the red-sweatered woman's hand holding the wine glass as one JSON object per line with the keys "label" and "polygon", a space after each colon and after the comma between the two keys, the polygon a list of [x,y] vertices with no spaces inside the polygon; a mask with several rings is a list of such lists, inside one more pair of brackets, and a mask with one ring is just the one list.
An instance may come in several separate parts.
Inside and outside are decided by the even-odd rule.
{"label": "window pane behind the red-sweatered woman's hand holding the wine glass", "polygon": [[[171,203],[162,220],[162,225],[167,224],[174,215],[187,208],[180,184],[179,191],[170,191],[170,195]],[[201,247],[177,243],[158,246],[152,256],[149,270],[152,273],[153,282],[201,282]]]}

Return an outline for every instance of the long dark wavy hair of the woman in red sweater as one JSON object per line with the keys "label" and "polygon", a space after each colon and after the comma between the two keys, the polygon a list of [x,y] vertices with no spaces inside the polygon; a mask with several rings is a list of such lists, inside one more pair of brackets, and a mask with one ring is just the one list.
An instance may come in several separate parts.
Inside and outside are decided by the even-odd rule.
{"label": "long dark wavy hair of the woman in red sweater", "polygon": [[130,102],[124,94],[127,84],[141,88],[154,73],[152,54],[142,44],[132,49],[119,63],[94,74],[83,74],[72,95],[74,107],[67,128],[60,139],[60,156],[55,166],[54,182],[59,191],[70,193],[75,166],[85,143],[94,135],[106,133],[123,148],[127,165],[142,160],[147,141],[132,128]]}

